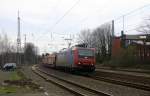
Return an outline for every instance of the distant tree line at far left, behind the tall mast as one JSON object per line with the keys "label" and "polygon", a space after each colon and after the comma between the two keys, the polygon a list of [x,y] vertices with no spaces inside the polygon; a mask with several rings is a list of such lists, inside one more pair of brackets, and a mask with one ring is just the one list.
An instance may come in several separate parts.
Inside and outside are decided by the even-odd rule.
{"label": "distant tree line at far left, behind the tall mast", "polygon": [[17,54],[20,56],[20,63],[37,64],[38,63],[38,48],[33,43],[26,43],[26,46],[21,48],[21,52],[17,53],[17,45],[8,38],[7,34],[0,34],[0,66],[5,63],[17,63]]}

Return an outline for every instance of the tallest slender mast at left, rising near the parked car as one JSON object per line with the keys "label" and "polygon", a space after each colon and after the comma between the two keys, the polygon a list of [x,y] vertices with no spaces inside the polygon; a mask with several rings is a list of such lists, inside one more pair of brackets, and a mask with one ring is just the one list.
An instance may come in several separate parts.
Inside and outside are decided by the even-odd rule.
{"label": "tallest slender mast at left, rising near the parked car", "polygon": [[18,35],[17,35],[17,64],[21,65],[21,36],[20,36],[20,17],[18,11]]}

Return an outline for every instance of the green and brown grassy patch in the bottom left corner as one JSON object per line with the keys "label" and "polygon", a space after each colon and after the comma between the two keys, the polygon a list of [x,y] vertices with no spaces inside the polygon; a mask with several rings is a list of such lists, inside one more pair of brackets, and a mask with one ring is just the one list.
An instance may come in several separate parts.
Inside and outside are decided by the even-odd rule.
{"label": "green and brown grassy patch in the bottom left corner", "polygon": [[0,95],[9,93],[43,92],[40,86],[27,78],[21,70],[11,71],[7,80],[0,86]]}

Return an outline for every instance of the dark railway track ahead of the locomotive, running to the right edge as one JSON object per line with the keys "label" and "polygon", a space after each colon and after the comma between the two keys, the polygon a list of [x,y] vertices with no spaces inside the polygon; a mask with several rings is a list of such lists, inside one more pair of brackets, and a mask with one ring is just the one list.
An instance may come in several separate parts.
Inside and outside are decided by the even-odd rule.
{"label": "dark railway track ahead of the locomotive, running to the right edge", "polygon": [[109,72],[99,72],[92,75],[88,75],[88,77],[95,80],[150,91],[150,78],[141,78],[138,76],[132,77],[130,75],[128,76],[122,74],[113,74]]}

